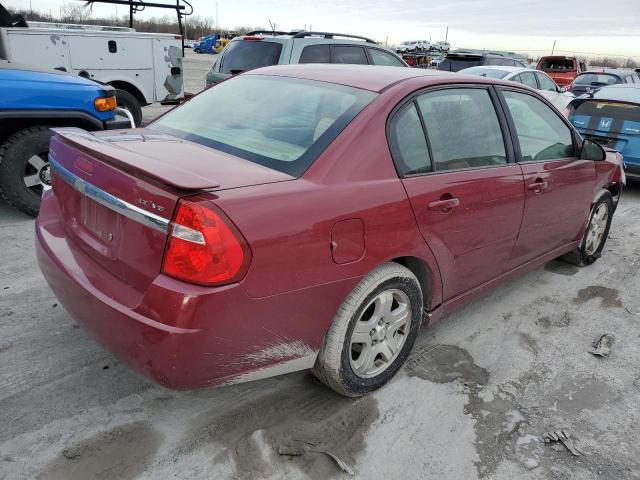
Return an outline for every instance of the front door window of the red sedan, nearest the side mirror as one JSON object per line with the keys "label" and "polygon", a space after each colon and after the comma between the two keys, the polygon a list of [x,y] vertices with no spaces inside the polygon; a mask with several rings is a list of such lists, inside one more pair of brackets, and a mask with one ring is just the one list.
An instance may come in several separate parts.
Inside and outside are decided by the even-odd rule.
{"label": "front door window of the red sedan, nearest the side mirror", "polygon": [[522,161],[574,156],[569,127],[545,103],[524,93],[503,92],[516,127]]}

